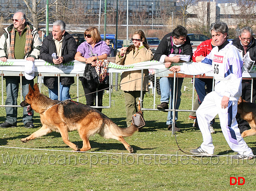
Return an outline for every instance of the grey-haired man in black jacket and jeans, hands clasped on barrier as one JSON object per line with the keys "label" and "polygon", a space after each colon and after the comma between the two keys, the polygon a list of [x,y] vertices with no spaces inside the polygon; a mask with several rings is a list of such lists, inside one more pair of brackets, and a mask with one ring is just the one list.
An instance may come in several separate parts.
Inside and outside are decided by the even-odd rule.
{"label": "grey-haired man in black jacket and jeans, hands clasped on barrier", "polygon": [[[66,24],[57,20],[53,23],[52,33],[46,36],[40,49],[40,58],[46,62],[56,64],[68,63],[76,55],[76,41],[65,31]],[[57,59],[52,57],[56,53]],[[70,85],[74,84],[74,77],[60,77],[60,101],[70,99]],[[44,85],[48,87],[49,97],[58,100],[58,77],[44,76]]]}

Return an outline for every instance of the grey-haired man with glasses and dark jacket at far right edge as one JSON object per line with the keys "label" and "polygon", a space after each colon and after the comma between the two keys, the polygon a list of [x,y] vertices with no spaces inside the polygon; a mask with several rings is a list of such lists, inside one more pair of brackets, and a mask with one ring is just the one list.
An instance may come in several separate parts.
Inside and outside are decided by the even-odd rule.
{"label": "grey-haired man with glasses and dark jacket at far right edge", "polygon": [[[245,26],[240,29],[238,38],[233,40],[233,45],[236,48],[243,51],[243,56],[246,52],[249,52],[250,58],[253,61],[256,61],[256,44],[255,39],[252,35],[252,28]],[[252,80],[242,80],[242,98],[245,101],[251,101],[251,83]],[[253,80],[253,89],[252,89],[252,103],[256,101],[256,80]],[[240,129],[240,133],[248,130],[250,125],[246,120],[240,118],[240,115],[236,115],[236,120],[238,123],[238,128]]]}

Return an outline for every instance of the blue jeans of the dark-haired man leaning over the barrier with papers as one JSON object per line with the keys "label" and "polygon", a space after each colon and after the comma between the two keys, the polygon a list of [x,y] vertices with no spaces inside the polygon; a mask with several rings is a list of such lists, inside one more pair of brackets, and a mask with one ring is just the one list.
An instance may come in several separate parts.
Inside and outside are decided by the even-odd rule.
{"label": "blue jeans of the dark-haired man leaning over the barrier with papers", "polygon": [[[163,77],[160,78],[159,82],[160,82],[160,90],[161,90],[161,103],[166,102],[166,103],[170,103],[169,104],[169,109],[174,109],[174,107],[172,107],[172,100],[173,100],[173,80],[174,78],[167,78],[167,77]],[[178,82],[178,90],[177,90],[177,82]],[[179,109],[180,107],[180,96],[181,96],[181,87],[182,87],[182,82],[183,82],[183,78],[176,78],[176,91],[178,91],[178,95],[177,95],[177,103],[176,103],[176,109]],[[170,95],[171,94],[171,95]],[[171,97],[171,99],[170,99]],[[176,98],[176,94],[175,94],[175,98]],[[176,99],[175,99],[176,102]],[[178,120],[178,111],[175,112],[175,121]],[[168,115],[167,115],[167,121],[166,121],[167,125],[172,124],[172,111],[168,111]]]}

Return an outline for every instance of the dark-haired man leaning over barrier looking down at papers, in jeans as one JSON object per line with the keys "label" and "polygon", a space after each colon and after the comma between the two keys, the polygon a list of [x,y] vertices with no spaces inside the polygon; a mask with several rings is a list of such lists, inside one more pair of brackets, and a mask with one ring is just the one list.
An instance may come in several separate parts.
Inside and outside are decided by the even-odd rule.
{"label": "dark-haired man leaning over barrier looking down at papers, in jeans", "polygon": [[[177,26],[173,32],[166,34],[161,40],[156,52],[154,54],[154,60],[164,63],[166,68],[170,68],[172,63],[183,62],[179,56],[169,57],[170,54],[182,54],[189,55],[192,59],[192,47],[190,39],[187,36],[188,31],[183,26]],[[160,78],[160,90],[161,90],[161,104],[157,105],[157,109],[172,109],[173,99],[173,78],[162,77]],[[178,81],[178,83],[177,83]],[[180,96],[183,78],[176,80],[176,91],[178,91],[176,109],[180,106]],[[177,87],[178,85],[178,87]],[[170,107],[168,106],[168,103]],[[175,113],[175,121],[178,119],[178,112]],[[167,121],[168,130],[172,131],[172,111],[168,111]],[[180,129],[175,124],[175,131]]]}

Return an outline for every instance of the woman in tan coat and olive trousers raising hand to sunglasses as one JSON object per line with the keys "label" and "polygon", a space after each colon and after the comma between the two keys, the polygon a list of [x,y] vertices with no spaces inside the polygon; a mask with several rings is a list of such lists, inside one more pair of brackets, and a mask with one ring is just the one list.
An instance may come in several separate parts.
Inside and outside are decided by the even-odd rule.
{"label": "woman in tan coat and olive trousers raising hand to sunglasses", "polygon": [[[120,52],[118,52],[116,55],[116,64],[129,65],[153,60],[153,53],[148,46],[145,34],[142,30],[134,32],[132,42],[133,45],[122,47]],[[144,94],[148,91],[148,70],[144,70],[143,76],[144,97]],[[127,127],[129,127],[132,123],[132,115],[138,111],[138,101],[141,91],[141,70],[123,72],[120,84],[121,90],[124,91],[126,124]]]}

